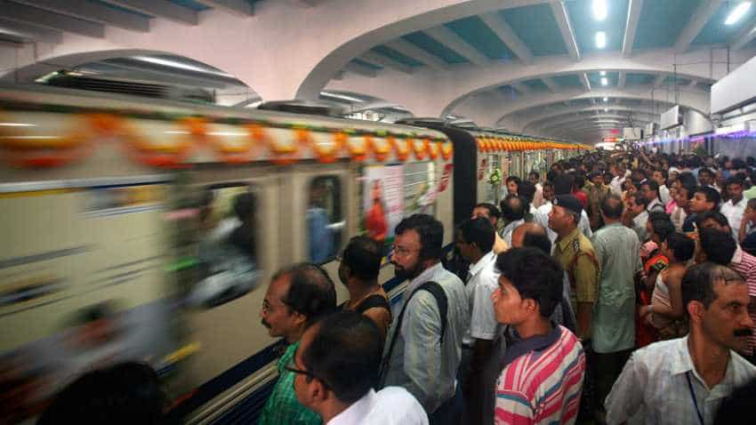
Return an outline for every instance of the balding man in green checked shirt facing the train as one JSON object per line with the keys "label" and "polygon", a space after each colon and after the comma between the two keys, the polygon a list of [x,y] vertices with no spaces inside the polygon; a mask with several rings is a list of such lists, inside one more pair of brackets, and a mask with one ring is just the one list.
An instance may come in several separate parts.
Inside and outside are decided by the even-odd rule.
{"label": "balding man in green checked shirt facing the train", "polygon": [[336,289],[326,270],[312,263],[281,269],[270,279],[262,301],[262,325],[274,338],[289,344],[278,360],[278,381],[262,408],[260,425],[309,425],[321,423],[318,413],[300,404],[294,393],[294,373],[286,370],[302,334],[336,309]]}

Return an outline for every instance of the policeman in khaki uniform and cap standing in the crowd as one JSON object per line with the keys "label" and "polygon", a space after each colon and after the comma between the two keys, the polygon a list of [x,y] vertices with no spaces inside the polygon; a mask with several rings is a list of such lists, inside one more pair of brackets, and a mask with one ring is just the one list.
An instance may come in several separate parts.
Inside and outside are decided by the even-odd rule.
{"label": "policeman in khaki uniform and cap standing in the crowd", "polygon": [[577,336],[583,341],[587,367],[583,384],[579,421],[591,418],[596,410],[595,356],[591,350],[593,305],[599,298],[599,262],[591,241],[577,229],[583,206],[575,196],[558,195],[549,213],[549,227],[557,234],[554,258],[565,269],[570,284],[570,301],[577,313]]}

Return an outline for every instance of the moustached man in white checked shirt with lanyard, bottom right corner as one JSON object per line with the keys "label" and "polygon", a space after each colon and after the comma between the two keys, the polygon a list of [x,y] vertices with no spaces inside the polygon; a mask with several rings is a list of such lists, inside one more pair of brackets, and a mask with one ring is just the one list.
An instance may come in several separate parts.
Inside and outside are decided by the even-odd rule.
{"label": "moustached man in white checked shirt with lanyard, bottom right corner", "polygon": [[756,377],[736,353],[753,332],[743,277],[696,265],[682,277],[682,301],[690,333],[632,353],[607,397],[608,424],[712,424],[722,400]]}

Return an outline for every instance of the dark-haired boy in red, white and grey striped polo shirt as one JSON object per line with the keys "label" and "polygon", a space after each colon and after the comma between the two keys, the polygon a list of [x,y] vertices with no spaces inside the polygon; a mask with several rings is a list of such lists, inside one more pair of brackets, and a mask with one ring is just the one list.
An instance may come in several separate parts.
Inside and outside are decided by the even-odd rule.
{"label": "dark-haired boy in red, white and grey striped polo shirt", "polygon": [[573,424],[585,373],[574,333],[549,321],[562,297],[562,269],[549,255],[515,248],[496,260],[501,272],[492,296],[496,320],[518,341],[507,347],[495,390],[496,424]]}

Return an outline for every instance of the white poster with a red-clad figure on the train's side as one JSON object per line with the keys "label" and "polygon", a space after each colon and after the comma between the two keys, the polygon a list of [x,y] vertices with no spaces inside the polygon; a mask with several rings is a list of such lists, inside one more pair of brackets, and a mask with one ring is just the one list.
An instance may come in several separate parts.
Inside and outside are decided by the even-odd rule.
{"label": "white poster with a red-clad figure on the train's side", "polygon": [[362,193],[367,236],[381,244],[390,242],[404,212],[404,166],[366,167]]}

